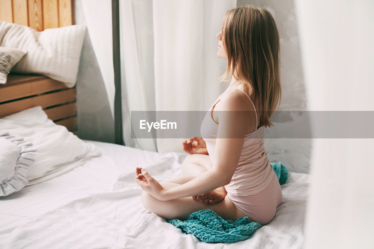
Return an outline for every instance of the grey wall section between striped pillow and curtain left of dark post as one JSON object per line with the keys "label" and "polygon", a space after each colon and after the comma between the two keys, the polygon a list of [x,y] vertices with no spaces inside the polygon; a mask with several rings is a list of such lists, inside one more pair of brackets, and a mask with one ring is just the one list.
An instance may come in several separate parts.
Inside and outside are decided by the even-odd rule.
{"label": "grey wall section between striped pillow and curtain left of dark post", "polygon": [[[86,24],[81,0],[74,4],[75,24]],[[77,77],[77,117],[79,138],[114,142],[114,120],[88,32]]]}

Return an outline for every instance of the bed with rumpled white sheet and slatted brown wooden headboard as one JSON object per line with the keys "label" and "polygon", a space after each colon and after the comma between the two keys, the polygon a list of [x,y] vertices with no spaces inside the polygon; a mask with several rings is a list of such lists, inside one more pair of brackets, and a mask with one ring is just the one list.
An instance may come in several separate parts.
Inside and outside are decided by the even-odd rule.
{"label": "bed with rumpled white sheet and slatted brown wooden headboard", "polygon": [[[0,1],[0,20],[38,31],[73,24],[72,11],[72,1]],[[77,134],[75,87],[34,74],[10,74],[0,86],[0,118],[38,106],[50,120]],[[308,174],[289,172],[275,218],[249,239],[205,243],[146,210],[142,189],[134,181],[136,167],[144,167],[158,181],[181,174],[186,153],[84,142],[100,155],[0,197],[0,248],[303,247]]]}

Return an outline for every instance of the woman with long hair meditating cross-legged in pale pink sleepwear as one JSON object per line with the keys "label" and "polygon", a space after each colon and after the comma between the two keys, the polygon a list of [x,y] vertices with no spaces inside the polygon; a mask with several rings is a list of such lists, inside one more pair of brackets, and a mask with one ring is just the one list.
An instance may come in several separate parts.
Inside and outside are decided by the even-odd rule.
{"label": "woman with long hair meditating cross-legged in pale pink sleepwear", "polygon": [[226,12],[217,39],[217,56],[227,59],[220,80],[231,73],[231,83],[203,120],[204,139],[183,142],[192,153],[184,175],[159,183],[137,167],[135,181],[144,207],[165,219],[185,220],[208,208],[224,219],[248,216],[265,225],[282,202],[264,148],[264,129],[281,100],[278,30],[267,10],[246,5]]}

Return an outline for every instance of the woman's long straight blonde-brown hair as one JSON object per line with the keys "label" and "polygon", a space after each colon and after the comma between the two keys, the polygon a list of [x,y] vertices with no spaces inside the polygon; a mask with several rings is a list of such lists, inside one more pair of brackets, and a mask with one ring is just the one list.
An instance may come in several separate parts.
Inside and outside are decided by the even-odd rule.
{"label": "woman's long straight blonde-brown hair", "polygon": [[[257,108],[259,123],[274,126],[270,117],[281,103],[279,34],[273,16],[266,9],[245,5],[225,13],[222,42],[227,54],[227,70],[248,86],[249,96]],[[279,107],[278,107],[279,110]],[[277,111],[278,111],[277,110]]]}

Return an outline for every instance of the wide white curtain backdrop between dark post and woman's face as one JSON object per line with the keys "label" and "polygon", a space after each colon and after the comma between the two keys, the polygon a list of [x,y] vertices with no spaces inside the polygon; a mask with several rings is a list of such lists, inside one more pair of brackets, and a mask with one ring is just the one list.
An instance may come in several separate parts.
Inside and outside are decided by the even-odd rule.
{"label": "wide white curtain backdrop between dark post and woman's face", "polygon": [[236,0],[120,0],[126,145],[183,151],[183,139],[131,138],[130,112],[208,110],[229,84],[216,81],[227,61],[217,57],[215,36],[234,7]]}

